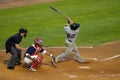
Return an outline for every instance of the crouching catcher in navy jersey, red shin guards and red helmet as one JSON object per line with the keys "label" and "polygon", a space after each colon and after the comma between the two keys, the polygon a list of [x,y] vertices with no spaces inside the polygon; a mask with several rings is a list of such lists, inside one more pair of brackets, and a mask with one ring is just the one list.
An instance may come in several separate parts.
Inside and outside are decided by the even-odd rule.
{"label": "crouching catcher in navy jersey, red shin guards and red helmet", "polygon": [[42,63],[43,55],[46,54],[51,57],[51,63],[55,66],[55,57],[53,54],[47,52],[43,47],[43,40],[41,38],[36,38],[34,40],[34,45],[30,46],[24,55],[24,65],[30,71],[37,71],[37,67]]}

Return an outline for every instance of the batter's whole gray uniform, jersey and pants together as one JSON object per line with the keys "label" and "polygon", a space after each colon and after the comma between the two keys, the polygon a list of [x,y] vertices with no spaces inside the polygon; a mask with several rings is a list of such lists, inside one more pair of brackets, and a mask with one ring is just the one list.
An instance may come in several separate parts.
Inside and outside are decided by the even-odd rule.
{"label": "batter's whole gray uniform, jersey and pants together", "polygon": [[71,30],[70,26],[65,26],[64,30],[65,30],[65,33],[66,33],[65,43],[67,45],[67,48],[66,48],[66,51],[64,53],[57,56],[57,61],[63,60],[65,57],[68,57],[70,52],[74,51],[75,56],[76,56],[76,60],[78,62],[84,62],[84,59],[82,59],[81,55],[78,52],[76,44],[75,44],[75,40],[77,38],[77,35],[79,33],[80,28],[78,28],[77,30]]}

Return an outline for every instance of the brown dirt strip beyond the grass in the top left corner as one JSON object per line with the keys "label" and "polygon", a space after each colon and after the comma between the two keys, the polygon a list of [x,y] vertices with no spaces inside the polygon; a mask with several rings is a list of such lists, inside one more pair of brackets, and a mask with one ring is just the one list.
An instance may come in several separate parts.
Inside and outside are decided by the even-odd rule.
{"label": "brown dirt strip beyond the grass in the top left corner", "polygon": [[58,0],[0,0],[0,9],[26,6],[32,4],[48,3]]}

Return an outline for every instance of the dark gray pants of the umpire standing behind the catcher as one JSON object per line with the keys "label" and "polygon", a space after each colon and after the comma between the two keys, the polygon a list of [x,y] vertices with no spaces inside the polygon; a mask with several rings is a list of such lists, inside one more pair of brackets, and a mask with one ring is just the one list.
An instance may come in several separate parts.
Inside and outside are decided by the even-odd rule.
{"label": "dark gray pants of the umpire standing behind the catcher", "polygon": [[15,48],[14,46],[11,46],[11,58],[9,61],[8,66],[14,67],[16,63],[21,63],[21,50]]}

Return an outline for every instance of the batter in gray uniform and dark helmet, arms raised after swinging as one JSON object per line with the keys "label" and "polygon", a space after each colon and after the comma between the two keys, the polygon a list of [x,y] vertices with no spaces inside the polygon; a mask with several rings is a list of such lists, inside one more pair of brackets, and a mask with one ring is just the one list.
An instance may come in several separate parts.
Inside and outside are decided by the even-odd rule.
{"label": "batter in gray uniform and dark helmet, arms raised after swinging", "polygon": [[66,17],[68,20],[68,24],[65,25],[64,30],[66,33],[65,44],[67,46],[66,51],[56,57],[56,62],[62,61],[68,57],[70,52],[74,52],[76,56],[76,60],[78,62],[85,62],[84,59],[81,57],[78,49],[76,47],[75,40],[77,38],[78,32],[80,30],[80,25],[78,23],[74,23],[70,17]]}

